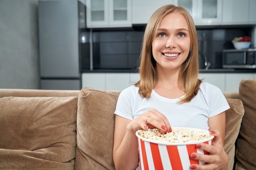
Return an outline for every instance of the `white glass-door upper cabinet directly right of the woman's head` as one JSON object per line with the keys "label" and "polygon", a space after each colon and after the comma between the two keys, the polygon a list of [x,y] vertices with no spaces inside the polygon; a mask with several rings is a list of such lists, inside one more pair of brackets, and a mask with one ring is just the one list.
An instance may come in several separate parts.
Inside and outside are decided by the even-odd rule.
{"label": "white glass-door upper cabinet directly right of the woman's head", "polygon": [[173,0],[173,4],[186,8],[195,25],[222,23],[222,0]]}

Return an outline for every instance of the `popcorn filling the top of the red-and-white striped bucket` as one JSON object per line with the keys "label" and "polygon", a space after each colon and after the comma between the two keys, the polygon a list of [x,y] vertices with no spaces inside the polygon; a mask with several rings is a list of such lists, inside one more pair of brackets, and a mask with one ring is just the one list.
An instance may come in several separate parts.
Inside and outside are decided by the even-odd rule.
{"label": "popcorn filling the top of the red-and-white striped bucket", "polygon": [[195,142],[211,137],[209,133],[205,133],[203,130],[182,127],[172,127],[172,132],[166,134],[163,134],[159,129],[139,130],[137,134],[146,139],[168,143]]}

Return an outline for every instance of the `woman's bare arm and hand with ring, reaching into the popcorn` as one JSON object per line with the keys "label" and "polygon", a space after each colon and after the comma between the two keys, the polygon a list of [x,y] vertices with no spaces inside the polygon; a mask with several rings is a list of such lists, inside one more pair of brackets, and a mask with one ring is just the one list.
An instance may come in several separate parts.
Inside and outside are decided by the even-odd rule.
{"label": "woman's bare arm and hand with ring, reaching into the popcorn", "polygon": [[158,128],[163,133],[171,131],[167,118],[156,109],[146,111],[133,120],[115,116],[113,160],[117,170],[135,169],[138,166],[138,140],[135,132],[148,128]]}

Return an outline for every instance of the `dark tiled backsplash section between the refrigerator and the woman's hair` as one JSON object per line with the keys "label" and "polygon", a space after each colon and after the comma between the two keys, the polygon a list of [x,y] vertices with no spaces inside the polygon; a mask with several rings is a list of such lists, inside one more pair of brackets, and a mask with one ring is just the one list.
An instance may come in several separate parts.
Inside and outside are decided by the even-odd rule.
{"label": "dark tiled backsplash section between the refrigerator and the woman's hair", "polygon": [[142,31],[94,31],[94,69],[136,69]]}

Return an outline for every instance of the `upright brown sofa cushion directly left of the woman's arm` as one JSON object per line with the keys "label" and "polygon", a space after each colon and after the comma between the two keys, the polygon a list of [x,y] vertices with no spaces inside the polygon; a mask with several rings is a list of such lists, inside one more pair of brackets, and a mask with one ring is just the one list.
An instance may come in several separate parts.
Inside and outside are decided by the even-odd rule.
{"label": "upright brown sofa cushion directly left of the woman's arm", "polygon": [[76,170],[115,170],[114,111],[119,92],[83,87],[77,111]]}

